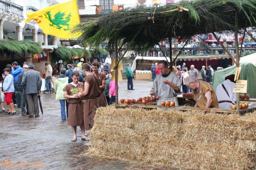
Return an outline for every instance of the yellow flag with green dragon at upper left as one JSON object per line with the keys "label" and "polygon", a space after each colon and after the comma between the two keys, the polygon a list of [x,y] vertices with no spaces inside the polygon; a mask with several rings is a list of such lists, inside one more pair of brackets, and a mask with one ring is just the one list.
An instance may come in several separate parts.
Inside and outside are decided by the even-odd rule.
{"label": "yellow flag with green dragon at upper left", "polygon": [[28,19],[36,21],[44,34],[55,35],[63,39],[78,38],[81,33],[71,34],[71,29],[80,23],[76,0],[52,5],[36,12],[27,13]]}

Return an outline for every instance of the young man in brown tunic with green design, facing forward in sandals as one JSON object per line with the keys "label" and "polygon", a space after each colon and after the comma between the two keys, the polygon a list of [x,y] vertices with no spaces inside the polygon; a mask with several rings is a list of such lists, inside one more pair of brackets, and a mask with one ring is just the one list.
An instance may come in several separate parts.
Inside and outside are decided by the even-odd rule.
{"label": "young man in brown tunic with green design, facing forward in sandals", "polygon": [[79,82],[79,73],[73,72],[72,73],[72,80],[73,82],[67,84],[63,90],[64,94],[63,97],[67,99],[69,103],[69,122],[68,125],[71,126],[73,132],[72,142],[77,141],[76,135],[76,127],[80,126],[82,131],[82,140],[86,140],[84,135],[84,114],[83,114],[83,104],[81,100],[78,98],[78,94],[82,93],[84,89],[84,83]]}

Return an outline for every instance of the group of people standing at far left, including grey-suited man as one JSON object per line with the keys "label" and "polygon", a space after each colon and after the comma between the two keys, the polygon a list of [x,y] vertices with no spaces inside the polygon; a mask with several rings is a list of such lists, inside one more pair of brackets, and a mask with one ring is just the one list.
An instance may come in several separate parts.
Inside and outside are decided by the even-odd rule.
{"label": "group of people standing at far left, including grey-suited man", "polygon": [[[42,86],[40,73],[34,65],[20,67],[17,62],[7,64],[3,70],[1,83],[1,113],[16,114],[15,108],[21,108],[21,114],[39,117],[38,94]],[[4,102],[8,109],[5,110]]]}

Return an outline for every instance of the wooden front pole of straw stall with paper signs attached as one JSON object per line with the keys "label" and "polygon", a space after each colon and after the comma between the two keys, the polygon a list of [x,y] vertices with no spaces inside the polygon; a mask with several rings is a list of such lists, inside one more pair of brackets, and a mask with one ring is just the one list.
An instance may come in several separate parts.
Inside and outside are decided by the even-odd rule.
{"label": "wooden front pole of straw stall with paper signs attached", "polygon": [[[239,67],[239,47],[238,47],[238,12],[236,10],[235,14],[235,45],[236,45],[236,67]],[[239,76],[238,76],[239,79]],[[239,93],[236,93],[236,110],[237,113],[240,114],[240,96]]]}

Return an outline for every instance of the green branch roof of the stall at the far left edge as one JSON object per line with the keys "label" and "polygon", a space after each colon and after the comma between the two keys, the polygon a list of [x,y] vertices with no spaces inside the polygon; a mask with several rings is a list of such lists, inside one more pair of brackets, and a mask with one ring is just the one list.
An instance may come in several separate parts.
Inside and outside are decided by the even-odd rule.
{"label": "green branch roof of the stall at the far left edge", "polygon": [[31,40],[0,40],[0,53],[36,53],[40,54],[42,51],[40,45]]}

